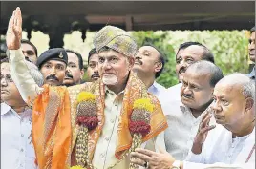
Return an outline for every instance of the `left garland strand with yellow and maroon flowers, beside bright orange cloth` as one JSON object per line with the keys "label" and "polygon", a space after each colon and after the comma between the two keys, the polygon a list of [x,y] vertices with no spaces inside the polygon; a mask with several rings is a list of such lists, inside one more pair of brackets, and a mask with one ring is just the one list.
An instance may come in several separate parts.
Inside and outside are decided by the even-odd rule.
{"label": "left garland strand with yellow and maroon flowers, beside bright orange cloth", "polygon": [[71,169],[93,169],[89,159],[88,139],[89,132],[96,128],[96,96],[89,92],[81,92],[77,96],[76,123],[79,125],[76,143],[76,166]]}

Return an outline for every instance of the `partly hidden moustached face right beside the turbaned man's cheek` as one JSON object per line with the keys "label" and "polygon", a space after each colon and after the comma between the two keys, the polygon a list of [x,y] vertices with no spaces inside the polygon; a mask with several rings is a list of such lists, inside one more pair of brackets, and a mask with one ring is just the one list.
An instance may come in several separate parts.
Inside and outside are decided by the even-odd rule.
{"label": "partly hidden moustached face right beside the turbaned man's cheek", "polygon": [[88,54],[87,74],[90,81],[96,81],[99,78],[98,74],[98,54],[93,48]]}

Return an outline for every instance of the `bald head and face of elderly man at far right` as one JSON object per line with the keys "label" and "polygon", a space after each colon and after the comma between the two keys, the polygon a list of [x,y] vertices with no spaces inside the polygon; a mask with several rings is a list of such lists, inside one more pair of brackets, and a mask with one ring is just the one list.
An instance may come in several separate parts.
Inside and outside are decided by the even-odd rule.
{"label": "bald head and face of elderly man at far right", "polygon": [[[244,74],[230,74],[220,80],[213,92],[216,122],[224,125],[235,136],[248,135],[254,127],[255,84]],[[251,130],[252,131],[252,130]]]}

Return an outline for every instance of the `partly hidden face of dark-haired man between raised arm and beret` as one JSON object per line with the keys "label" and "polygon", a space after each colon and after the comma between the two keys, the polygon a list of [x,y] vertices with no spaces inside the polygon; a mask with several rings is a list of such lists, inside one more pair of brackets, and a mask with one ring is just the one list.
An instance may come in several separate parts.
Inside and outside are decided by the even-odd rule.
{"label": "partly hidden face of dark-haired man between raised arm and beret", "polygon": [[24,54],[26,60],[32,62],[33,64],[36,64],[37,61],[37,49],[32,44],[31,41],[22,39],[21,40],[21,50]]}

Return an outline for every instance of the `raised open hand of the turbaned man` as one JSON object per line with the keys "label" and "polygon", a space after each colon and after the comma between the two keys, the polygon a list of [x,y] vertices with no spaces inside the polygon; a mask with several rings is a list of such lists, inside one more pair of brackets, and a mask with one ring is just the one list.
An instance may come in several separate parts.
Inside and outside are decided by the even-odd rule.
{"label": "raised open hand of the turbaned man", "polygon": [[9,20],[6,43],[9,50],[18,50],[22,38],[22,16],[20,8],[13,11]]}

